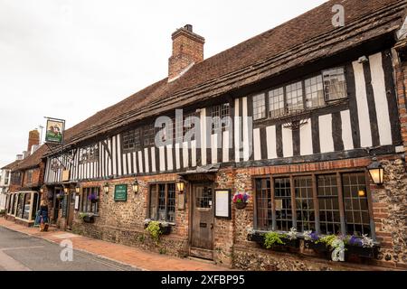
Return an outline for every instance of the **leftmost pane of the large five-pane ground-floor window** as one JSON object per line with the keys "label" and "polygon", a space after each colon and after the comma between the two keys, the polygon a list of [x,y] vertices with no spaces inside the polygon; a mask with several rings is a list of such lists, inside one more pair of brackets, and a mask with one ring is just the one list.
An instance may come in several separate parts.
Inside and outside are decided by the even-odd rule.
{"label": "leftmost pane of the large five-pane ground-floor window", "polygon": [[256,180],[257,228],[268,230],[272,228],[271,186],[270,179]]}

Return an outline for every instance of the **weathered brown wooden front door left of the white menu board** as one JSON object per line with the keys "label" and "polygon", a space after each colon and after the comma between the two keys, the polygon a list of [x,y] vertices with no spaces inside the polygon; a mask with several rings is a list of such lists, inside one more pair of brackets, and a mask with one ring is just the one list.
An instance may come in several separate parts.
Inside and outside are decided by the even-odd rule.
{"label": "weathered brown wooden front door left of the white menu board", "polygon": [[191,256],[213,259],[213,184],[193,185]]}

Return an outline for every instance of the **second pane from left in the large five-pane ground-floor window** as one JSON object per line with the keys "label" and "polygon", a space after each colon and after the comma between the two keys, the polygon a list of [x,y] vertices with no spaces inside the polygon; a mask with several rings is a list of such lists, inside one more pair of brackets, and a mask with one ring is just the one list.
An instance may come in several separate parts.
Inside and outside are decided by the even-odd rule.
{"label": "second pane from left in the large five-pane ground-floor window", "polygon": [[291,185],[289,178],[274,180],[277,229],[289,231],[292,228]]}

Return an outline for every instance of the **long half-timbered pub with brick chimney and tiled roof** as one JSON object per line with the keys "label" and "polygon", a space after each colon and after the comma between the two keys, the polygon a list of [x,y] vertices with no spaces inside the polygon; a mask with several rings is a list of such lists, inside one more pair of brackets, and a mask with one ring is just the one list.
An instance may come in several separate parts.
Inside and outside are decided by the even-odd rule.
{"label": "long half-timbered pub with brick chimney and tiled roof", "polygon": [[[176,30],[166,79],[73,126],[46,156],[47,190],[66,192],[53,200],[59,226],[244,269],[405,266],[406,2],[342,1],[339,26],[334,5],[209,59],[191,25]],[[383,183],[368,171],[377,162]],[[159,245],[146,219],[170,224]],[[282,252],[253,238],[292,228],[299,245]],[[379,252],[327,263],[306,231],[367,236]]]}

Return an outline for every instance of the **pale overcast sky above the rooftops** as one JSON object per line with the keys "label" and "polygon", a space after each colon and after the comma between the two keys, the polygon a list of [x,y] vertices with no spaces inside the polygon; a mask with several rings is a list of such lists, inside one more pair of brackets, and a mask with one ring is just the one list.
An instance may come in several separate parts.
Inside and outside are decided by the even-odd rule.
{"label": "pale overcast sky above the rooftops", "polygon": [[171,33],[186,23],[204,57],[325,0],[0,0],[0,166],[43,117],[74,126],[166,78]]}

